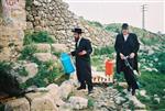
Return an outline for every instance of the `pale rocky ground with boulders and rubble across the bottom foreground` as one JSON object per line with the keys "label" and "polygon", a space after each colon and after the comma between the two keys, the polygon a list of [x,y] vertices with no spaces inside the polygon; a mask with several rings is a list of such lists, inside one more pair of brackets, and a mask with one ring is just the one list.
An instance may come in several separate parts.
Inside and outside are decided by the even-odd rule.
{"label": "pale rocky ground with boulders and rubble across the bottom foreground", "polygon": [[117,86],[98,84],[94,93],[88,95],[87,90],[76,90],[76,80],[66,80],[61,86],[36,88],[35,92],[4,102],[4,111],[145,111],[145,104]]}

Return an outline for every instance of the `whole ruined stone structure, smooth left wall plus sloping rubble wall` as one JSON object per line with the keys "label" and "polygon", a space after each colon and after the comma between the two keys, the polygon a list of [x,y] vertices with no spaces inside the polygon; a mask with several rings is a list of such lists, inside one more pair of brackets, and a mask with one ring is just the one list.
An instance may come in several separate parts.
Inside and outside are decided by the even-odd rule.
{"label": "whole ruined stone structure, smooth left wall plus sloping rubble wall", "polygon": [[62,0],[1,0],[0,59],[19,56],[24,31],[47,31],[56,44],[74,46],[72,29],[77,26],[85,31],[82,36],[90,38],[95,47],[113,44],[110,33],[70,12]]}

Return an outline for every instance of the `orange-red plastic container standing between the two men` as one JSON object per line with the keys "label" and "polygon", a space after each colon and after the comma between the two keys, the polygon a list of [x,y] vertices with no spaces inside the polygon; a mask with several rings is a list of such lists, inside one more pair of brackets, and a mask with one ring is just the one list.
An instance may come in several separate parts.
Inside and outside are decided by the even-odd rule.
{"label": "orange-red plastic container standing between the two men", "polygon": [[113,62],[108,59],[106,60],[106,76],[111,76],[113,75]]}

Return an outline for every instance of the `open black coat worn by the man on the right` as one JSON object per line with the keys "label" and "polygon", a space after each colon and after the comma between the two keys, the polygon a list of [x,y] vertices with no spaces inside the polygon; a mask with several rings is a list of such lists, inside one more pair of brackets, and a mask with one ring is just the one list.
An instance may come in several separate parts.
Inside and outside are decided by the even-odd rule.
{"label": "open black coat worn by the man on the right", "polygon": [[140,48],[140,43],[135,34],[130,33],[125,42],[124,42],[123,34],[118,34],[116,38],[114,48],[117,52],[117,73],[118,74],[123,71],[123,67],[124,67],[123,60],[120,58],[120,53],[122,53],[124,56],[129,56],[131,53],[134,53],[135,57],[134,57],[132,67],[133,69],[139,71],[138,51]]}

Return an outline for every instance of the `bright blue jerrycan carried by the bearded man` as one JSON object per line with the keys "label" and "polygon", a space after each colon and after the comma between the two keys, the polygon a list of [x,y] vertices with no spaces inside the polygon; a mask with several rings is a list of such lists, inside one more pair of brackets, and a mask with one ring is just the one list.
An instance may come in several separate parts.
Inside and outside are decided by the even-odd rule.
{"label": "bright blue jerrycan carried by the bearded man", "polygon": [[63,64],[65,74],[72,74],[75,71],[74,64],[73,64],[72,58],[68,54],[62,53],[61,62]]}

